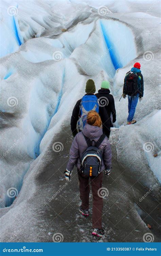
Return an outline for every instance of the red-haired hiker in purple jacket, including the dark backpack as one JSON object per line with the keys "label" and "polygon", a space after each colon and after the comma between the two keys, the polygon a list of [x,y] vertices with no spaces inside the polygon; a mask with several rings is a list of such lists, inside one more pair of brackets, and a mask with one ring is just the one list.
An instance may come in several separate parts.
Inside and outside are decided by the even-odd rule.
{"label": "red-haired hiker in purple jacket, including the dark backpack", "polygon": [[102,237],[102,209],[103,198],[100,196],[102,187],[103,170],[109,175],[111,172],[111,147],[108,138],[102,131],[102,121],[96,111],[89,111],[87,124],[82,132],[76,134],[70,148],[69,161],[65,177],[71,182],[70,177],[74,165],[77,167],[79,191],[82,205],[79,211],[84,216],[89,216],[89,177],[92,186],[92,234]]}

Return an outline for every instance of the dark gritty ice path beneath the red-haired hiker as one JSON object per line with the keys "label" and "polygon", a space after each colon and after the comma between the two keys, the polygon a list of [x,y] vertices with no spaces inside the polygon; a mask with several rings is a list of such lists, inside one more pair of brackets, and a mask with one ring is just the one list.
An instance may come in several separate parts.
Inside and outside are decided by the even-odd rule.
{"label": "dark gritty ice path beneath the red-haired hiker", "polygon": [[[103,187],[109,191],[103,208],[103,226],[109,233],[103,242],[142,242],[143,235],[148,232],[154,235],[155,242],[159,242],[158,188],[156,186],[146,199],[139,201],[149,189],[142,185],[141,179],[131,179],[130,170],[117,161],[117,132],[115,130],[111,137],[112,173],[109,177],[104,176],[103,181]],[[64,145],[57,153],[52,150],[55,140]],[[62,126],[61,133],[53,138],[44,156],[35,160],[33,169],[25,176],[19,197],[10,211],[7,212],[6,208],[6,214],[0,219],[0,241],[53,242],[52,237],[58,232],[64,237],[64,242],[98,241],[91,236],[91,216],[84,218],[78,211],[80,199],[76,169],[71,184],[64,180],[71,142],[70,127]],[[152,226],[151,230],[147,224]]]}

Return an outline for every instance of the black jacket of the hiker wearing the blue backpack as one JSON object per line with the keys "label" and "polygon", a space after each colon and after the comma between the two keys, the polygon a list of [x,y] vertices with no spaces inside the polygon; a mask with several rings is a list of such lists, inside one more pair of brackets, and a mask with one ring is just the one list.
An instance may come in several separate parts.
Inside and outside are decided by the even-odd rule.
{"label": "black jacket of the hiker wearing the blue backpack", "polygon": [[[85,94],[85,95],[93,95],[91,93]],[[77,121],[80,117],[80,105],[81,105],[81,101],[82,99],[78,100],[77,103],[74,106],[73,112],[72,112],[72,116],[71,116],[71,130],[73,135],[75,136],[77,134],[77,129],[76,129],[76,125],[77,125]],[[99,114],[103,123],[103,132],[109,136],[110,135],[110,118],[107,114],[107,111],[105,110],[104,107],[100,107],[99,106]]]}

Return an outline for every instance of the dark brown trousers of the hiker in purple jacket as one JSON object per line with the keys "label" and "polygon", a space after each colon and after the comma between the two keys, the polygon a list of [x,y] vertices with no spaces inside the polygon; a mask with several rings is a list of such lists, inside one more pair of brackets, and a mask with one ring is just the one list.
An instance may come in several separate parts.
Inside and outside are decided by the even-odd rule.
{"label": "dark brown trousers of the hiker in purple jacket", "polygon": [[[83,177],[83,174],[78,170],[79,191],[82,200],[82,209],[89,209],[89,177]],[[93,228],[102,229],[102,209],[103,198],[98,196],[98,189],[102,187],[103,172],[96,177],[91,177],[93,208],[92,208],[92,226]]]}

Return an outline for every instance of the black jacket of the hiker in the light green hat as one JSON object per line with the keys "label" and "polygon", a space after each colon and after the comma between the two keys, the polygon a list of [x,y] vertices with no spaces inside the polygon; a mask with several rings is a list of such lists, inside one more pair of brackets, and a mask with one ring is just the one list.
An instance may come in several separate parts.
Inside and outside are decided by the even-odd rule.
{"label": "black jacket of the hiker in the light green hat", "polygon": [[108,101],[107,101],[107,105],[105,106],[105,109],[106,109],[109,117],[111,117],[111,114],[112,114],[113,120],[111,120],[111,118],[110,118],[110,121],[111,121],[111,127],[113,127],[112,123],[116,122],[116,110],[115,110],[115,105],[114,105],[114,98],[110,94],[110,90],[109,89],[100,89],[98,91],[98,93],[95,94],[95,96],[97,98],[101,98],[101,97],[107,98]]}

